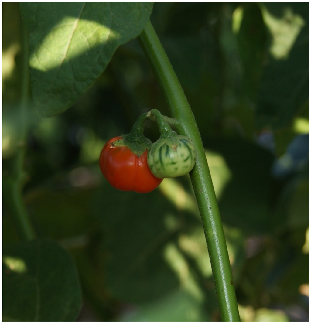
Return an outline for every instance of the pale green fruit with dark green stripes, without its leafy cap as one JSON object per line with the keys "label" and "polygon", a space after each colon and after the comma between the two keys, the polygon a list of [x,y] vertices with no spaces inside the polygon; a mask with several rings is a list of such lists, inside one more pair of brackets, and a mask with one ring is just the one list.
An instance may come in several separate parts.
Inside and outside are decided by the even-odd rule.
{"label": "pale green fruit with dark green stripes, without its leafy cap", "polygon": [[179,137],[176,149],[166,143],[155,152],[148,152],[148,166],[157,178],[175,178],[190,172],[194,167],[196,152],[193,144],[185,137]]}

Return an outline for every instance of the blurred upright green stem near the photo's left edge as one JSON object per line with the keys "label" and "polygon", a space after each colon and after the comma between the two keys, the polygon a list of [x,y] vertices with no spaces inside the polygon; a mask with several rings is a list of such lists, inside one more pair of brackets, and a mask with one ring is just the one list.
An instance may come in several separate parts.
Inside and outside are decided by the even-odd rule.
{"label": "blurred upright green stem near the photo's left edge", "polygon": [[9,213],[15,223],[17,232],[22,240],[35,238],[35,231],[29,220],[26,207],[23,201],[23,186],[27,179],[24,172],[24,158],[26,149],[26,136],[28,130],[28,97],[29,97],[29,67],[28,67],[28,35],[25,26],[22,24],[22,89],[19,109],[17,152],[13,157],[9,174],[3,178],[3,197]]}

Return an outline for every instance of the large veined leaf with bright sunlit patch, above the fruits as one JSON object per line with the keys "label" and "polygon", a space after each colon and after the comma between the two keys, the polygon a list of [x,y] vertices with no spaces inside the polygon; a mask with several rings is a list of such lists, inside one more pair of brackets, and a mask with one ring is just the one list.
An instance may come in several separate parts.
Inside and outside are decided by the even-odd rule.
{"label": "large veined leaf with bright sunlit patch, above the fruits", "polygon": [[29,64],[38,112],[68,109],[105,70],[120,44],[138,36],[151,2],[24,2]]}

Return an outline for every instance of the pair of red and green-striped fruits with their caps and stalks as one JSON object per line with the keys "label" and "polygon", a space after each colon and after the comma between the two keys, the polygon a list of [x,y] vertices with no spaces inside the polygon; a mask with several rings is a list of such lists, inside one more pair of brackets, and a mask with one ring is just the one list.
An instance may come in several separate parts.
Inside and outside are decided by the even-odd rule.
{"label": "pair of red and green-striped fruits with their caps and stalks", "polygon": [[[143,135],[147,118],[155,120],[160,138],[152,143]],[[192,170],[196,161],[190,139],[178,135],[158,110],[140,116],[131,133],[110,139],[102,148],[99,167],[116,189],[146,193],[153,191],[163,178],[179,177]]]}

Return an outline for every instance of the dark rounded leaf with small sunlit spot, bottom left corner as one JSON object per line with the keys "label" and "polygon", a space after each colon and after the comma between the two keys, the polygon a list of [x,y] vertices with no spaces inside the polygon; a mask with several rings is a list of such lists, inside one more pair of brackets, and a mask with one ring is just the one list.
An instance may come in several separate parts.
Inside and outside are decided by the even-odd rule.
{"label": "dark rounded leaf with small sunlit spot, bottom left corner", "polygon": [[73,321],[81,292],[73,261],[49,240],[3,249],[3,320]]}

